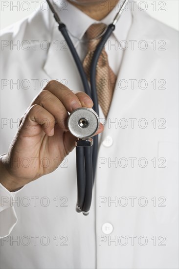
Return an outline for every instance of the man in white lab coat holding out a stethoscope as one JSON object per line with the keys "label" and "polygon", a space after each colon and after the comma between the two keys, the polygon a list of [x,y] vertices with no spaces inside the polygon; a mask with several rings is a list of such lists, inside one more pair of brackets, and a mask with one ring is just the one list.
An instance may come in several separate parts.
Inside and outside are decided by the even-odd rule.
{"label": "man in white lab coat holding out a stethoscope", "polygon": [[[84,66],[88,29],[111,23],[114,4],[58,1]],[[117,78],[107,116],[100,106],[87,217],[75,211],[75,138],[66,120],[92,102],[64,38],[40,8],[1,40],[1,267],[177,268],[176,31],[131,3],[105,46]]]}

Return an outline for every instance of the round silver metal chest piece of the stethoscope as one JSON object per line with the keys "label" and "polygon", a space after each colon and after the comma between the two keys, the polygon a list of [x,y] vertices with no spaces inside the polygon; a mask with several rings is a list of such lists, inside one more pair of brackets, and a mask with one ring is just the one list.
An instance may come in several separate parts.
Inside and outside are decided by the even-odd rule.
{"label": "round silver metal chest piece of the stethoscope", "polygon": [[88,139],[99,128],[99,117],[92,109],[79,108],[68,117],[68,129],[71,134],[80,139]]}

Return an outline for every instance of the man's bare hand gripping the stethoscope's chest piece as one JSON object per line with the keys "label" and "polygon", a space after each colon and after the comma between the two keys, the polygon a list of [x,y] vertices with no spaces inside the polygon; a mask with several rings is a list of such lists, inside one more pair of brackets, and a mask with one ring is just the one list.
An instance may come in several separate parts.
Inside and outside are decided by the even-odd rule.
{"label": "man's bare hand gripping the stethoscope's chest piece", "polygon": [[[1,183],[9,191],[54,171],[73,150],[67,112],[93,103],[84,92],[73,92],[52,80],[24,113],[7,155],[1,157]],[[96,134],[103,131],[100,125]]]}

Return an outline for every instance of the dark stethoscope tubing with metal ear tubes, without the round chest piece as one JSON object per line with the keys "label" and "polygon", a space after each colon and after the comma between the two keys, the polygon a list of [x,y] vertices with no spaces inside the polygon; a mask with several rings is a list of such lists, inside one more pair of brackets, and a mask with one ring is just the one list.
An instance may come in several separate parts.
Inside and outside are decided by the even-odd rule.
{"label": "dark stethoscope tubing with metal ear tubes, without the round chest piece", "polygon": [[[68,35],[66,25],[63,22],[61,22],[50,0],[46,0],[46,1],[53,13],[54,19],[59,24],[58,26],[59,31],[62,33],[63,37],[65,38],[67,45],[69,47],[69,50],[76,63],[76,66],[78,68],[78,71],[79,71],[79,74],[83,83],[84,90],[91,97],[93,101],[93,110],[97,115],[99,115],[98,97],[97,97],[97,91],[96,91],[97,62],[101,54],[101,51],[103,50],[104,45],[107,42],[108,38],[112,34],[112,31],[115,29],[115,24],[118,21],[122,11],[124,10],[123,8],[125,8],[128,0],[123,1],[120,7],[120,10],[117,12],[113,22],[108,25],[104,35],[102,36],[101,41],[97,45],[97,48],[93,54],[93,58],[90,65],[90,87],[89,87],[87,75],[84,71],[81,60]],[[77,211],[78,212],[82,211],[84,215],[87,215],[90,210],[90,204],[91,204],[91,199],[92,199],[92,185],[95,178],[95,171],[96,171],[96,164],[97,164],[97,152],[98,152],[98,135],[95,135],[93,137],[93,146],[92,145],[91,146],[84,146],[84,145],[78,146],[76,144],[76,163],[77,163],[76,167],[77,167],[77,189],[78,189]],[[83,164],[82,164],[82,160],[83,160]],[[92,181],[92,184],[91,184],[91,181]]]}

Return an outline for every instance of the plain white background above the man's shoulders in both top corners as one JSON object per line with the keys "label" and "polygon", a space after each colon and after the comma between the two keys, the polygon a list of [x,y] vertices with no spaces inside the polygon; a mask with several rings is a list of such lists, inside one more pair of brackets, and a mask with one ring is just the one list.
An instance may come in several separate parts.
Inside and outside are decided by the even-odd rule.
{"label": "plain white background above the man's shoulders in both top corners", "polygon": [[[179,0],[135,0],[152,17],[179,30]],[[45,0],[0,0],[0,29],[22,20]],[[16,7],[15,5],[18,5]],[[45,7],[45,4],[44,4]],[[19,9],[19,10],[18,10]]]}

